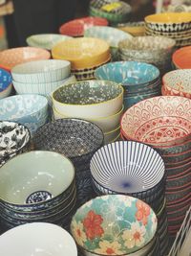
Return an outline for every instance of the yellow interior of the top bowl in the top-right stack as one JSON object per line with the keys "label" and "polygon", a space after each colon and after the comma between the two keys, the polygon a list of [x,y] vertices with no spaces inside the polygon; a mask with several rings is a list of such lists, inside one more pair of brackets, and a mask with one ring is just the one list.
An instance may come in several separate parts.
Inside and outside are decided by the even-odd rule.
{"label": "yellow interior of the top bowl in the top-right stack", "polygon": [[191,12],[164,12],[145,17],[147,23],[182,23],[191,22]]}

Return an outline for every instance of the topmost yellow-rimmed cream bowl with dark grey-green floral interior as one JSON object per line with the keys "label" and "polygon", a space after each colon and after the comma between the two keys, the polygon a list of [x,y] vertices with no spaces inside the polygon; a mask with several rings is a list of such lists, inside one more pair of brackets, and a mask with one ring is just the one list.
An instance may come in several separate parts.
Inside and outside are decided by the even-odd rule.
{"label": "topmost yellow-rimmed cream bowl with dark grey-green floral interior", "polygon": [[114,81],[78,81],[53,92],[53,106],[63,115],[101,118],[120,111],[123,88]]}

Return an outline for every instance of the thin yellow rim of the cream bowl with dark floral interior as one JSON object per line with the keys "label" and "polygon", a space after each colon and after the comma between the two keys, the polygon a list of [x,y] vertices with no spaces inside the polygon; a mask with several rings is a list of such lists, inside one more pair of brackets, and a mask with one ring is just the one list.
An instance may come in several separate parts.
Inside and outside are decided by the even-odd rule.
{"label": "thin yellow rim of the cream bowl with dark floral interior", "polygon": [[[101,80],[100,82],[101,83],[108,83],[107,85],[110,85],[110,84],[113,84],[113,85],[115,85],[116,86],[116,88],[118,87],[118,89],[120,89],[120,93],[117,95],[117,97],[115,97],[115,98],[113,98],[113,99],[111,99],[111,100],[107,100],[107,101],[104,101],[104,102],[100,102],[100,103],[97,103],[97,104],[84,104],[84,105],[74,105],[74,104],[65,104],[65,103],[60,103],[60,102],[58,102],[57,100],[55,100],[54,99],[54,94],[60,89],[60,88],[66,88],[66,86],[67,87],[70,87],[70,86],[73,86],[73,85],[75,85],[75,86],[77,86],[78,84],[82,84],[82,86],[83,86],[83,82],[84,81],[75,81],[75,82],[72,82],[72,83],[69,83],[69,84],[67,84],[67,85],[61,85],[59,88],[57,88],[57,89],[55,89],[53,92],[52,92],[52,100],[53,100],[53,102],[56,102],[57,104],[59,104],[59,105],[68,105],[68,106],[75,106],[75,107],[80,107],[80,106],[92,106],[92,105],[104,105],[104,104],[106,104],[106,103],[111,103],[111,102],[113,102],[113,101],[117,101],[117,99],[120,99],[122,96],[123,96],[123,93],[124,93],[124,88],[122,87],[122,85],[120,84],[120,83],[117,83],[117,82],[115,82],[115,81],[103,81],[103,80]],[[94,83],[94,82],[99,82],[99,81],[91,81],[91,80],[87,80],[87,81],[85,81],[85,82],[88,82],[88,83]],[[99,87],[100,86],[105,86],[105,84],[103,85],[103,84],[98,84],[99,85]]]}

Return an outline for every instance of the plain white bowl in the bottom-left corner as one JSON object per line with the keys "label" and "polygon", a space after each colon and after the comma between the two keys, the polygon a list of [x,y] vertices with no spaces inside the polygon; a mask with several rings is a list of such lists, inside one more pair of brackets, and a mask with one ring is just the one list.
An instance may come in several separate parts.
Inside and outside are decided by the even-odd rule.
{"label": "plain white bowl in the bottom-left corner", "polygon": [[[26,237],[31,239],[26,241]],[[35,222],[15,227],[0,236],[0,244],[1,252],[7,256],[37,256],[39,251],[45,255],[77,256],[72,236],[63,228],[51,223]]]}

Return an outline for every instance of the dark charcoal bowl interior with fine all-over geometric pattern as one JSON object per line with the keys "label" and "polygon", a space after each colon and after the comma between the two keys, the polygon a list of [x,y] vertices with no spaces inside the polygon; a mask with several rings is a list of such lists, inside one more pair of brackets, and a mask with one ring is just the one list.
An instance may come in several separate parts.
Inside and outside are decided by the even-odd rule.
{"label": "dark charcoal bowl interior with fine all-over geometric pattern", "polygon": [[103,143],[103,133],[96,125],[78,119],[59,119],[37,130],[33,137],[38,150],[53,150],[70,158],[94,152]]}

